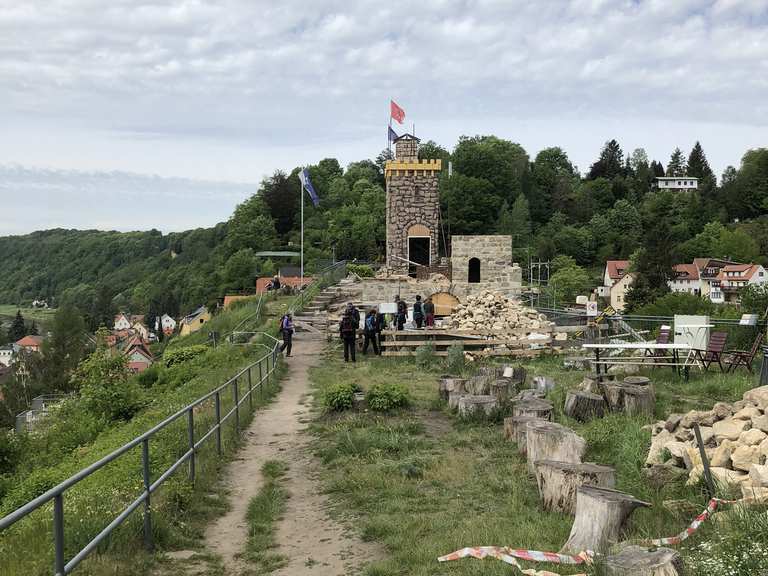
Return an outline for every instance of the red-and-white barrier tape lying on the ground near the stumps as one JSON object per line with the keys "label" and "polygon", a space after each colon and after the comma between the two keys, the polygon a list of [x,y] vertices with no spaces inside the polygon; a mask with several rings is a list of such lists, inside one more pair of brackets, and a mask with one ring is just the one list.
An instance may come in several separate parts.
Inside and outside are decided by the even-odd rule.
{"label": "red-and-white barrier tape lying on the ground near the stumps", "polygon": [[[699,527],[706,522],[720,504],[735,504],[741,502],[741,500],[723,500],[721,498],[712,498],[704,511],[693,519],[693,522],[677,536],[670,536],[669,538],[658,538],[655,540],[641,540],[638,543],[645,546],[675,546],[680,544],[683,540],[691,536]],[[510,548],[508,546],[475,546],[470,548],[462,548],[451,554],[440,556],[438,562],[450,562],[452,560],[460,560],[462,558],[477,558],[478,560],[484,560],[485,558],[496,558],[507,564],[510,564],[520,570],[522,574],[526,576],[557,576],[553,572],[546,570],[524,570],[520,563],[517,561],[528,560],[529,562],[550,562],[552,564],[592,564],[595,556],[592,551],[581,552],[580,554],[556,554],[554,552],[540,552],[538,550],[522,550],[517,548]],[[586,576],[585,574],[576,574],[575,576]]]}

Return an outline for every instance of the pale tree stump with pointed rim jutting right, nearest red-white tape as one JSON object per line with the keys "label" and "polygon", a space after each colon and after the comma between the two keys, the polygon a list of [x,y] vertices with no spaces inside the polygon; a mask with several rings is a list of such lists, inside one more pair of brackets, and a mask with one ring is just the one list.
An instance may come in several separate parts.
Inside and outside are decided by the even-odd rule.
{"label": "pale tree stump with pointed rim jutting right, nearest red-white tape", "polygon": [[561,552],[607,552],[621,540],[629,516],[641,506],[650,504],[617,490],[582,486],[576,492],[576,518],[571,535]]}

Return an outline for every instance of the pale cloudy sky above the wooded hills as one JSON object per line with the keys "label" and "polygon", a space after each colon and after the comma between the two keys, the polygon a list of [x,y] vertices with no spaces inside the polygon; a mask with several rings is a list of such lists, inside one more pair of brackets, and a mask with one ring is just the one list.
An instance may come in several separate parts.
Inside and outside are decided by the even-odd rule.
{"label": "pale cloudy sky above the wooded hills", "polygon": [[225,219],[277,168],[416,133],[718,172],[768,145],[766,0],[0,0],[0,234]]}

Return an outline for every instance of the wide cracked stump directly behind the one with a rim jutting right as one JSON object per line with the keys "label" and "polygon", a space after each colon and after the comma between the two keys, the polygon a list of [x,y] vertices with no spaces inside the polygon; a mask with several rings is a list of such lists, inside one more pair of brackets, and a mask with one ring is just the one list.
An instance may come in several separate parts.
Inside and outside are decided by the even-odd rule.
{"label": "wide cracked stump directly behind the one with a rim jutting right", "polygon": [[536,483],[545,510],[573,514],[576,511],[576,492],[581,486],[613,488],[616,472],[609,466],[586,462],[558,462],[539,460],[536,465]]}

